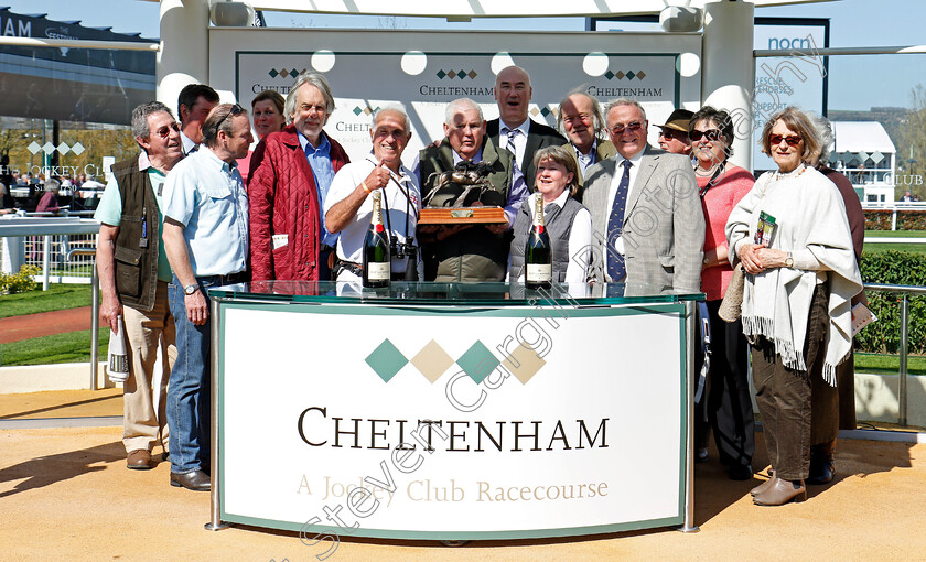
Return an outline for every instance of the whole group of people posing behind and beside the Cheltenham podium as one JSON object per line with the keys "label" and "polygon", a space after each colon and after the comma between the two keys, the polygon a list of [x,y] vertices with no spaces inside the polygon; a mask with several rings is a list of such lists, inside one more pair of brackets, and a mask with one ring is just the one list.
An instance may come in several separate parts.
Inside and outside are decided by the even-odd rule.
{"label": "whole group of people posing behind and beside the Cheltenham podium", "polygon": [[[123,317],[132,356],[128,466],[152,467],[161,443],[172,485],[209,489],[206,290],[245,280],[359,280],[370,195],[379,191],[397,280],[521,279],[541,199],[556,281],[623,282],[628,294],[703,291],[713,352],[699,460],[712,431],[730,477],[753,476],[749,353],[773,469],[753,490],[755,502],[780,505],[801,497],[805,480],[828,482],[863,234],[851,185],[847,192],[844,177],[816,167],[826,161],[828,123],[794,108],[769,119],[763,150],[778,170],[755,181],[729,162],[734,131],[725,111],[676,110],[659,126],[657,149],[634,99],[602,106],[582,89],[569,91],[558,131],[528,118],[531,96],[527,72],[504,68],[495,85],[499,118],[486,121],[471,99],[451,101],[444,138],[411,167],[402,162],[412,134],[405,107],[373,114],[370,152],[352,162],[324,130],[334,97],[316,73],[301,74],[286,99],[272,91],[255,98],[252,152],[247,109],[219,104],[206,85],[181,91],[179,123],[160,102],[136,108],[141,152],[114,165],[97,212],[101,315],[114,331]],[[434,179],[461,162],[483,171],[504,221],[419,226],[420,209],[446,197]],[[767,238],[755,236],[760,216],[776,225]],[[718,310],[740,263],[742,317],[725,323]],[[159,346],[164,376],[152,390]]]}

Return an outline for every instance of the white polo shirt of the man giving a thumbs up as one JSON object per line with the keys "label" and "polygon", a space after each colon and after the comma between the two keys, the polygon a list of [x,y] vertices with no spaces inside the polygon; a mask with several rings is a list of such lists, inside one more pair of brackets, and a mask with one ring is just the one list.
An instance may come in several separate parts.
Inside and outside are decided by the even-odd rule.
{"label": "white polo shirt of the man giving a thumbs up", "polygon": [[[360,182],[367,179],[377,162],[372,155],[359,162],[352,162],[342,167],[334,176],[331,183],[331,188],[325,197],[324,213],[327,214],[341,201],[347,198],[354,193],[354,190],[360,185]],[[411,196],[409,202],[405,193],[399,188],[398,182],[401,182],[402,187]],[[418,227],[418,215],[421,210],[421,190],[418,186],[418,177],[412,174],[406,166],[399,169],[399,174],[392,174],[392,180],[383,190],[383,225],[390,229],[390,237],[396,239],[399,244],[406,241],[406,236],[414,236],[414,229]],[[406,209],[409,213],[406,213]],[[337,257],[344,261],[353,261],[354,263],[364,262],[364,239],[369,229],[369,221],[373,217],[373,197],[367,197],[354,215],[354,219],[347,223],[341,230],[341,236],[337,238]],[[408,231],[406,231],[406,217],[408,217]],[[419,256],[420,258],[420,256]],[[398,259],[392,256],[392,272],[402,273],[408,264],[408,258]],[[419,259],[419,279],[423,279],[423,269]],[[338,281],[356,281],[359,279],[347,270],[344,270],[338,275]]]}

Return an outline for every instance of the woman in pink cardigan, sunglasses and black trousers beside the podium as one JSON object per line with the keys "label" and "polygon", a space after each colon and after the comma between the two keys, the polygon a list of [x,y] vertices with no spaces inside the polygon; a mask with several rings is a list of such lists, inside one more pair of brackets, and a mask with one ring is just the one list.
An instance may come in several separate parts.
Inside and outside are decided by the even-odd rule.
{"label": "woman in pink cardigan, sunglasses and black trousers beside the podium", "polygon": [[733,122],[726,111],[702,107],[691,117],[688,136],[707,226],[701,291],[707,298],[712,350],[708,393],[696,406],[696,458],[707,460],[708,436],[713,430],[720,462],[728,467],[730,478],[747,480],[753,475],[755,420],[746,371],[746,338],[742,324],[723,322],[718,309],[733,277],[723,229],[733,207],[752,190],[755,179],[728,161],[733,154]]}

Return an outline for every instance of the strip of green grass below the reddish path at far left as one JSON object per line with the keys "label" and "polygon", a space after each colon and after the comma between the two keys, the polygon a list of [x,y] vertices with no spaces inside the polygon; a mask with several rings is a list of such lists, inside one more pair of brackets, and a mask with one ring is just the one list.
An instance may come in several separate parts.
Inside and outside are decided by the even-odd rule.
{"label": "strip of green grass below the reddish path at far left", "polygon": [[[88,363],[93,331],[71,332],[53,336],[34,337],[0,345],[3,367],[14,365],[53,365],[57,363]],[[106,360],[109,328],[99,328],[99,357]]]}

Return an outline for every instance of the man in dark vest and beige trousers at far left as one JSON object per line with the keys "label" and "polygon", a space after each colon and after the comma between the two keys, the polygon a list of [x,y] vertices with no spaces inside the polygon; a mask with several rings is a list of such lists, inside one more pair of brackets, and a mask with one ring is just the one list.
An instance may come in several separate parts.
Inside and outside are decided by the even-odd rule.
{"label": "man in dark vest and beige trousers at far left", "polygon": [[[180,162],[183,151],[180,126],[159,101],[132,110],[132,133],[141,152],[112,165],[112,180],[95,215],[101,223],[97,267],[103,322],[112,331],[111,337],[119,315],[126,326],[129,378],[122,387],[122,443],[128,467],[148,469],[155,464],[151,458],[154,445],[162,446],[164,456],[169,447],[165,397],[176,358],[176,332],[168,306],[168,282],[173,273],[161,240],[161,194],[166,173]],[[159,347],[162,374],[154,386]]]}

